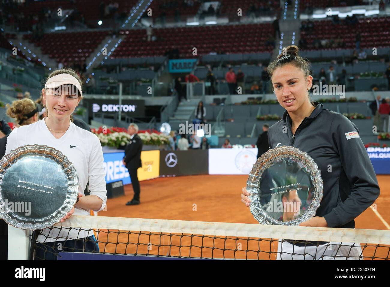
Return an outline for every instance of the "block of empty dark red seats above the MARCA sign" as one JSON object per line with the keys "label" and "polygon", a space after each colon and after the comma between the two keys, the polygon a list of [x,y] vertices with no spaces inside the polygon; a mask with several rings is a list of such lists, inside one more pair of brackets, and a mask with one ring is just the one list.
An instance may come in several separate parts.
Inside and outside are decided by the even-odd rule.
{"label": "block of empty dark red seats above the MARCA sign", "polygon": [[[269,35],[273,35],[270,23],[248,25],[220,25],[201,27],[177,27],[153,29],[157,41],[146,41],[146,30],[121,31],[127,34],[113,57],[162,56],[168,50],[177,48],[182,57],[194,58],[210,52],[257,53],[272,52],[272,46],[265,46]],[[178,43],[176,39],[181,41]],[[193,55],[193,48],[197,55]]]}

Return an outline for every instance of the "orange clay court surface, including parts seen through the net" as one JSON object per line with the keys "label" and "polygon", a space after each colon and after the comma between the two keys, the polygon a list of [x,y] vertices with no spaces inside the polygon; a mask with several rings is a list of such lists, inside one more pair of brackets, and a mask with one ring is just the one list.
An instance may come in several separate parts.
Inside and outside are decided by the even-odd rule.
{"label": "orange clay court surface, including parts seen through the net", "polygon": [[[107,200],[107,210],[99,212],[99,216],[136,217],[152,219],[175,219],[190,221],[213,221],[230,223],[258,224],[248,207],[240,200],[242,187],[245,187],[248,176],[245,175],[196,175],[165,177],[146,180],[141,184],[141,204],[125,206],[133,196],[131,185],[125,186],[125,196]],[[390,176],[378,175],[381,195],[376,200],[376,209],[386,222],[390,222]],[[196,211],[194,209],[196,205]],[[379,219],[372,209],[365,210],[355,219],[356,228],[387,230],[385,224]],[[103,230],[102,230],[103,231]],[[105,232],[99,234],[98,241],[106,241]],[[118,240],[119,238],[119,240]],[[192,240],[192,242],[191,242]],[[203,240],[203,241],[202,241]],[[277,242],[269,239],[248,241],[244,239],[213,239],[213,237],[190,237],[181,234],[147,235],[135,232],[109,235],[109,244],[99,243],[103,252],[117,253],[148,253],[147,242],[151,242],[150,254],[214,257],[214,258],[251,258],[251,259],[275,259]],[[123,244],[115,244],[124,242]],[[126,244],[127,242],[140,242],[141,244]],[[241,243],[242,250],[236,252]],[[360,242],[364,243],[364,242]],[[150,244],[150,243],[149,243]],[[171,247],[169,247],[171,245]],[[173,245],[173,246],[172,246]],[[176,246],[193,246],[176,247]],[[199,248],[196,246],[207,246]],[[213,250],[213,246],[215,247]],[[264,252],[257,252],[257,250]],[[387,247],[367,247],[363,251],[364,256],[389,258]],[[248,250],[255,250],[245,252]],[[225,250],[223,250],[225,249]],[[271,253],[270,253],[271,252]]]}

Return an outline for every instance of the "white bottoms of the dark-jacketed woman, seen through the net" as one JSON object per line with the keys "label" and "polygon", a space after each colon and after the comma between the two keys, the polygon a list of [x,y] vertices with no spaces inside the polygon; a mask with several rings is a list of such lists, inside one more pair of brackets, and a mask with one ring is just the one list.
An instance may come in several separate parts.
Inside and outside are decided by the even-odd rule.
{"label": "white bottoms of the dark-jacketed woman, seen through the net", "polygon": [[317,247],[316,245],[297,246],[280,241],[282,240],[279,239],[278,242],[277,260],[363,260],[359,258],[362,256],[360,243],[342,242],[340,246],[340,242],[329,242]]}

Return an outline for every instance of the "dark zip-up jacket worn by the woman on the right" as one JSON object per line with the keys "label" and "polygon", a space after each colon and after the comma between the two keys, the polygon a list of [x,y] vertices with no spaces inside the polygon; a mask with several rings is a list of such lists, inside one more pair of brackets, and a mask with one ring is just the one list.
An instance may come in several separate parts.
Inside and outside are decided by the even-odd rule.
{"label": "dark zip-up jacket worn by the woman on the right", "polygon": [[378,180],[356,126],[345,116],[315,102],[295,135],[287,111],[268,130],[269,148],[293,146],[317,163],[324,181],[316,216],[329,227],[355,228],[355,218],[379,196]]}

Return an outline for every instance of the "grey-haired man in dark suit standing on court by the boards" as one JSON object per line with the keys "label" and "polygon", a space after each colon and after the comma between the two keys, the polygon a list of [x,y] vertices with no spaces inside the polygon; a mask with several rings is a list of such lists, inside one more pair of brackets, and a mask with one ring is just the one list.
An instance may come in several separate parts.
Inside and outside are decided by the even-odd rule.
{"label": "grey-haired man in dark suit standing on court by the boards", "polygon": [[137,134],[138,126],[135,123],[131,123],[127,131],[130,135],[130,140],[124,149],[123,164],[129,170],[131,184],[133,184],[134,197],[132,200],[128,201],[126,205],[138,205],[140,204],[140,182],[138,181],[137,170],[142,167],[142,140]]}

